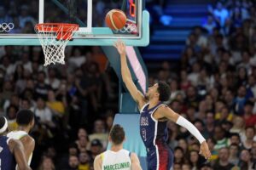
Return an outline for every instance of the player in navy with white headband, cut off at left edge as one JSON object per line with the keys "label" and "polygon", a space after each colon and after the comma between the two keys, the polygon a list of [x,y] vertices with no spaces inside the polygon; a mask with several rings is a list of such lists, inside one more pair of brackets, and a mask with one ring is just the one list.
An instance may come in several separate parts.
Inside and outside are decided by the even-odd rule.
{"label": "player in navy with white headband, cut off at left edge", "polygon": [[23,145],[19,140],[6,137],[7,129],[6,118],[0,116],[0,169],[14,170],[17,164],[20,170],[31,170],[26,163]]}

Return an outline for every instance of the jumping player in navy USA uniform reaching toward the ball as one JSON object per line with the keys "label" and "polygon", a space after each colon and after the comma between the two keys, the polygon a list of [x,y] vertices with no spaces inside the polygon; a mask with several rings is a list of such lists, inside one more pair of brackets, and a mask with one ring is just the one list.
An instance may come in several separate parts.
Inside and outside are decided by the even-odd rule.
{"label": "jumping player in navy USA uniform reaching toward the ball", "polygon": [[118,41],[114,44],[120,54],[121,74],[126,88],[137,102],[140,109],[140,133],[147,149],[148,170],[169,170],[172,167],[172,150],[166,144],[168,120],[176,122],[192,133],[201,144],[200,154],[206,159],[211,157],[206,140],[197,128],[183,116],[172,111],[170,107],[162,104],[169,99],[171,89],[166,82],[155,83],[143,95],[132,82],[131,72],[127,66],[125,43]]}

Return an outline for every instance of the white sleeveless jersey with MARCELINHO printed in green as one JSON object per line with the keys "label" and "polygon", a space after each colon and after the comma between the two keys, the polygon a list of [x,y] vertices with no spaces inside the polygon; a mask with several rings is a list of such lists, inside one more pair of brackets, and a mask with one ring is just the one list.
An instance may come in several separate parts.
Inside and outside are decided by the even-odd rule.
{"label": "white sleeveless jersey with MARCELINHO printed in green", "polygon": [[107,150],[102,153],[102,170],[122,169],[131,170],[130,151],[119,150],[117,152]]}

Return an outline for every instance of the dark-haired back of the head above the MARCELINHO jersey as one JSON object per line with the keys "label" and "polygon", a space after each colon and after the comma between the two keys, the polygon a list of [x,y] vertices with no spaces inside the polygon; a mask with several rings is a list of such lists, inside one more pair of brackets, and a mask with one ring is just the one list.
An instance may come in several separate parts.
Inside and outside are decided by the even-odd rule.
{"label": "dark-haired back of the head above the MARCELINHO jersey", "polygon": [[113,125],[109,136],[113,144],[121,144],[125,139],[125,130],[119,124]]}

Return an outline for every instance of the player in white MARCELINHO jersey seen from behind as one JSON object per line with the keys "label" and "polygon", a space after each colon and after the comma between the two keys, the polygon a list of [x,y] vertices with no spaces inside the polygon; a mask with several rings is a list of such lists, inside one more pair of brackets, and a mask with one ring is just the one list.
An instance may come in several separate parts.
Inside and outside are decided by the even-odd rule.
{"label": "player in white MARCELINHO jersey seen from behind", "polygon": [[96,156],[94,160],[95,170],[142,170],[140,161],[135,153],[123,149],[125,141],[124,128],[119,124],[112,127],[109,137],[111,149]]}

